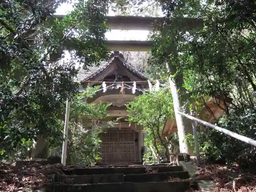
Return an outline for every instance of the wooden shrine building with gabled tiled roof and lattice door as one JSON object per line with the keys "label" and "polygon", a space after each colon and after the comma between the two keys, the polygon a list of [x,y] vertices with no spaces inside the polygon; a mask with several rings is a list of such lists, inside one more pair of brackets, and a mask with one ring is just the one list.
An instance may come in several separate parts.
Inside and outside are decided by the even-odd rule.
{"label": "wooden shrine building with gabled tiled roof and lattice door", "polygon": [[[133,93],[133,81],[136,81],[137,90]],[[142,82],[140,82],[142,81]],[[108,89],[97,92],[89,103],[111,103],[108,108],[110,119],[122,117],[118,124],[102,133],[100,146],[102,164],[138,163],[142,161],[143,135],[142,126],[125,121],[128,119],[125,104],[133,101],[136,96],[148,88],[147,78],[129,63],[121,53],[114,52],[109,62],[87,74],[81,81],[82,87],[102,86],[105,82]],[[114,85],[113,85],[114,82]],[[122,83],[123,82],[123,83]],[[127,83],[126,83],[127,82]],[[128,83],[129,82],[129,83]],[[125,84],[125,89],[123,86]],[[97,119],[92,120],[97,121]],[[92,123],[92,124],[93,124]]]}

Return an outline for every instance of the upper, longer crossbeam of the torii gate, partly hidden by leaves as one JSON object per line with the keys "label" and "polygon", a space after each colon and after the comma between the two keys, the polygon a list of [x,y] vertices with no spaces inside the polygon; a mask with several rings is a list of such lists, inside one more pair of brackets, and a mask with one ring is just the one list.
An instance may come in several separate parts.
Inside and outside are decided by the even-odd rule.
{"label": "upper, longer crossbeam of the torii gate, partly hidden by leaves", "polygon": [[[53,15],[47,18],[48,25],[51,25],[56,18],[61,20],[64,15]],[[106,26],[112,30],[148,30],[159,29],[163,22],[167,21],[164,17],[141,17],[141,16],[106,16]],[[168,25],[167,25],[168,26]],[[180,30],[202,28],[203,19],[201,18],[175,18],[168,27],[178,27]]]}

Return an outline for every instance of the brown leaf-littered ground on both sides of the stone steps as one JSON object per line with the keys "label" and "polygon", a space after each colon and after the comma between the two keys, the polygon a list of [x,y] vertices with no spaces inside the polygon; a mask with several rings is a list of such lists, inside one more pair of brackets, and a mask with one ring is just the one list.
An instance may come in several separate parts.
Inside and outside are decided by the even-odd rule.
{"label": "brown leaf-littered ground on both sides of the stone steps", "polygon": [[[0,165],[0,191],[6,192],[32,192],[43,191],[40,188],[52,184],[51,178],[55,174],[61,174],[62,168],[74,168],[74,166],[39,165],[33,164],[17,168],[14,164]],[[248,170],[240,170],[238,166],[231,167],[211,164],[198,168],[196,178],[190,179],[191,183],[199,179],[210,179],[216,184],[214,192],[256,192],[256,175]],[[178,178],[170,178],[168,181],[182,181]],[[196,192],[187,190],[186,192]]]}

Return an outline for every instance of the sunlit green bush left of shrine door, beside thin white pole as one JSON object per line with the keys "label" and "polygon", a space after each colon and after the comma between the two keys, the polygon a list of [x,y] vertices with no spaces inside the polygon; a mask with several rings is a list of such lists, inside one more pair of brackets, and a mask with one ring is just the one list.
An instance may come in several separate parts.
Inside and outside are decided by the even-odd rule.
{"label": "sunlit green bush left of shrine door, beside thin white pole", "polygon": [[[99,87],[87,88],[85,92],[77,93],[71,104],[68,164],[92,164],[100,159],[100,134],[105,128],[111,127],[115,121],[104,120],[108,117],[106,111],[110,104],[88,103]],[[92,119],[95,119],[92,121]],[[59,144],[61,146],[61,144]]]}

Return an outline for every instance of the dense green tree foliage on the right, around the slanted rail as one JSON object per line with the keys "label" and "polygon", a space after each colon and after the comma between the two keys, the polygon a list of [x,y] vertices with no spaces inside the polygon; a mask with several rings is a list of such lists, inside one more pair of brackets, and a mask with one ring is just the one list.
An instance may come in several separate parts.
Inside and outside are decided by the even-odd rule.
{"label": "dense green tree foliage on the right, around the slanted rail", "polygon": [[[250,7],[250,8],[248,8]],[[152,65],[169,63],[174,78],[182,76],[190,103],[207,96],[220,96],[224,116],[217,124],[255,139],[255,19],[254,2],[244,1],[162,1],[169,22],[182,17],[200,17],[204,26],[182,31],[175,22],[166,23],[152,39]],[[183,96],[181,96],[182,98]],[[183,97],[184,98],[184,97]],[[203,103],[202,103],[203,104]],[[198,111],[198,113],[200,113]],[[229,162],[255,161],[254,147],[214,130],[200,133],[203,154]],[[209,139],[210,138],[210,139]],[[236,147],[234,147],[236,146]],[[236,150],[234,150],[236,148]],[[243,155],[241,155],[243,154]]]}

